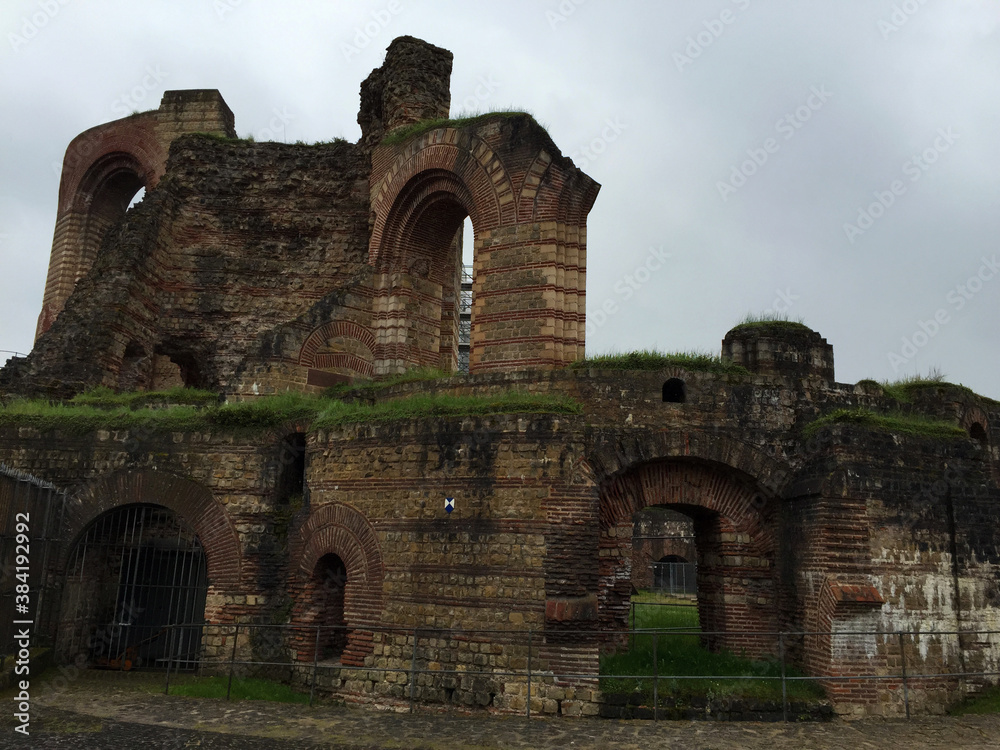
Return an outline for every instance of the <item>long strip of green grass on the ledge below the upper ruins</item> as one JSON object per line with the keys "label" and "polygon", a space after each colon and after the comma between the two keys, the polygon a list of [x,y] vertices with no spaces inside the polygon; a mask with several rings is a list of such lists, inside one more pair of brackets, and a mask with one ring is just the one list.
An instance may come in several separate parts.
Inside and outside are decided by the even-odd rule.
{"label": "long strip of green grass on the ledge below the upper ruins", "polygon": [[[122,401],[129,403],[127,395],[122,395]],[[42,431],[58,429],[73,434],[101,429],[252,433],[282,427],[289,422],[309,422],[313,428],[330,428],[425,417],[581,412],[579,403],[569,397],[522,391],[491,396],[414,395],[376,404],[345,403],[290,392],[221,405],[180,404],[155,409],[15,400],[0,407],[0,426],[34,427]]]}

